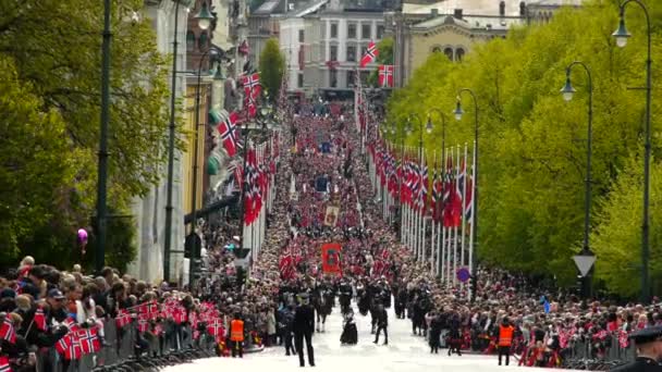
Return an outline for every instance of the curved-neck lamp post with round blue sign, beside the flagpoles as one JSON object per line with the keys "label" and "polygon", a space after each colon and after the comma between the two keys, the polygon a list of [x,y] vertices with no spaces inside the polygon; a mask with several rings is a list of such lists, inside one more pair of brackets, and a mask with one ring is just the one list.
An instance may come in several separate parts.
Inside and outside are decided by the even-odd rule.
{"label": "curved-neck lamp post with round blue sign, beside the flagpoles", "polygon": [[[471,210],[471,241],[474,241],[474,247],[478,244],[478,100],[476,99],[476,94],[474,90],[469,88],[462,88],[457,91],[457,106],[455,107],[455,119],[457,121],[462,120],[462,115],[464,114],[464,110],[462,109],[462,94],[467,92],[471,96],[474,100],[474,141],[476,142],[476,148],[474,149],[474,208]],[[475,248],[471,247],[469,249],[469,264],[471,265],[471,302],[476,300],[476,290],[478,289],[478,270],[476,270],[476,255],[474,255]]]}

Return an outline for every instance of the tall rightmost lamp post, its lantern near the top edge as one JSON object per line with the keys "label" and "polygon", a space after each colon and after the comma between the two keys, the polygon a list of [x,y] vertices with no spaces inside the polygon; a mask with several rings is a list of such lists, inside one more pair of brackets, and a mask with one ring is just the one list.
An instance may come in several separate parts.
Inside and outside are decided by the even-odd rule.
{"label": "tall rightmost lamp post, its lantern near the top edge", "polygon": [[650,287],[648,278],[648,258],[649,258],[649,199],[650,199],[650,106],[652,91],[652,74],[651,74],[651,27],[650,15],[646,4],[640,0],[625,0],[620,8],[618,28],[612,34],[616,38],[616,45],[621,48],[627,45],[627,39],[632,36],[625,28],[625,7],[634,2],[638,4],[646,15],[647,34],[648,34],[648,57],[646,59],[646,87],[636,88],[646,90],[646,139],[643,145],[643,221],[641,223],[641,301],[648,301],[650,297]]}

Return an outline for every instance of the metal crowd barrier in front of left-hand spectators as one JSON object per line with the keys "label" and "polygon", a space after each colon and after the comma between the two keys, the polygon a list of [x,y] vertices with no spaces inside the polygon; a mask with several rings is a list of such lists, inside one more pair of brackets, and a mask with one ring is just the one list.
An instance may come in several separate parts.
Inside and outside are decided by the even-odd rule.
{"label": "metal crowd barrier in front of left-hand spectators", "polygon": [[[139,333],[137,323],[118,328],[114,319],[103,321],[105,337],[98,352],[84,355],[77,360],[65,360],[56,348],[44,348],[37,352],[37,372],[91,372],[101,367],[119,365],[140,359],[150,367],[149,360],[168,357],[171,354],[186,350],[200,352],[203,356],[214,355],[216,342],[212,336],[201,332],[198,339],[193,339],[189,325],[179,325],[167,321],[161,324],[162,332],[157,335],[150,331]],[[156,364],[151,365],[155,367]],[[119,370],[135,370],[132,368]],[[139,370],[144,370],[140,368]]]}

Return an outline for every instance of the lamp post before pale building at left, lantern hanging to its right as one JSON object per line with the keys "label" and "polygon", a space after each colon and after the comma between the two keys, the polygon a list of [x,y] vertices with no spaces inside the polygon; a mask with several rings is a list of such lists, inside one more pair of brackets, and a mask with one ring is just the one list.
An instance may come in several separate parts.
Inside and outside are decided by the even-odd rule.
{"label": "lamp post before pale building at left, lantern hanging to its right", "polygon": [[[171,92],[170,92],[170,124],[169,138],[168,138],[168,181],[167,181],[167,196],[166,196],[166,237],[163,240],[163,278],[166,282],[170,281],[170,252],[172,249],[172,187],[174,182],[174,139],[176,136],[176,122],[175,122],[175,103],[176,103],[176,86],[177,86],[177,28],[180,21],[180,4],[191,3],[191,0],[173,0],[174,5],[174,37],[172,41],[172,71],[171,71]],[[207,10],[207,2],[203,3],[203,9],[195,16],[198,20],[198,27],[200,29],[209,28],[213,16]]]}

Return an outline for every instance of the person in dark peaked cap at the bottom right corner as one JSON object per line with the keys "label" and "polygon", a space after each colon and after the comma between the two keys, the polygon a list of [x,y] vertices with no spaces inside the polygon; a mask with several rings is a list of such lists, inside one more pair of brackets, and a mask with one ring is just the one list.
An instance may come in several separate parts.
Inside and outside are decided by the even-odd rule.
{"label": "person in dark peaked cap at the bottom right corner", "polygon": [[662,371],[662,326],[651,326],[629,335],[637,347],[637,358],[625,365],[612,369],[616,372]]}

